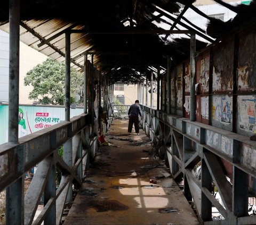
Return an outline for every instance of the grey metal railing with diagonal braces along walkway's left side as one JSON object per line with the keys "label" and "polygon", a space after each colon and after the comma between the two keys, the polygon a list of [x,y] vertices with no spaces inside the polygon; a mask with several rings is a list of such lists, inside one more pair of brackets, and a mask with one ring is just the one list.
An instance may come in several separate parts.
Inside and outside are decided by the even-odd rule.
{"label": "grey metal railing with diagonal braces along walkway's left side", "polygon": [[[0,191],[24,178],[26,171],[37,165],[23,204],[16,206],[23,213],[24,224],[60,223],[72,184],[78,188],[82,184],[89,153],[93,155],[97,150],[98,137],[92,137],[91,130],[89,115],[81,114],[71,118],[70,122],[61,122],[22,137],[17,145],[0,145]],[[67,143],[73,155],[71,166],[58,155],[59,147]],[[57,168],[62,176],[56,190]],[[17,190],[17,196],[20,191],[23,194],[24,190]],[[33,222],[42,195],[44,207]],[[6,213],[10,214],[12,210],[7,208]]]}

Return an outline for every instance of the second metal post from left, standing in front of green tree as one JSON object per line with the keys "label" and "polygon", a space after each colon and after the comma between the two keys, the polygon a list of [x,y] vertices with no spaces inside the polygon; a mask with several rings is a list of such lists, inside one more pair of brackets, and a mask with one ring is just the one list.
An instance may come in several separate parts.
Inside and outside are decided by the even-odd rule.
{"label": "second metal post from left, standing in front of green tree", "polygon": [[[65,121],[70,121],[70,33],[66,32],[66,78],[65,78]],[[71,129],[71,127],[69,128]],[[68,131],[71,133],[71,130]],[[63,145],[63,160],[71,168],[73,166],[72,160],[72,139],[66,141]],[[72,201],[72,183],[69,184],[66,202]]]}

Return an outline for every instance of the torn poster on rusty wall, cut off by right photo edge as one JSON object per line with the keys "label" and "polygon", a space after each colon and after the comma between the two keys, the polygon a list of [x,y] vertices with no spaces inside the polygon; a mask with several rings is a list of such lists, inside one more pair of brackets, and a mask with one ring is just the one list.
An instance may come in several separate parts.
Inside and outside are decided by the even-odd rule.
{"label": "torn poster on rusty wall, cut off by right photo edge", "polygon": [[238,96],[237,102],[239,113],[239,128],[249,132],[256,132],[256,96]]}

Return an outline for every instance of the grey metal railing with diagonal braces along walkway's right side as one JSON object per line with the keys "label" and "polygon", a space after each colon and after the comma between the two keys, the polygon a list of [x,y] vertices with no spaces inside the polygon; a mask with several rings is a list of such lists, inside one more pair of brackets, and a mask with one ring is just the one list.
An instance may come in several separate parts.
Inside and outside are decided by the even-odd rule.
{"label": "grey metal railing with diagonal braces along walkway's right side", "polygon": [[[142,106],[142,126],[152,140],[164,138],[170,172],[204,224],[255,224],[248,198],[256,195],[256,143],[249,137]],[[232,166],[231,183],[221,161]],[[201,163],[201,178],[193,173]],[[214,197],[217,187],[221,202]],[[250,193],[249,193],[250,191]],[[212,205],[223,220],[212,221]]]}

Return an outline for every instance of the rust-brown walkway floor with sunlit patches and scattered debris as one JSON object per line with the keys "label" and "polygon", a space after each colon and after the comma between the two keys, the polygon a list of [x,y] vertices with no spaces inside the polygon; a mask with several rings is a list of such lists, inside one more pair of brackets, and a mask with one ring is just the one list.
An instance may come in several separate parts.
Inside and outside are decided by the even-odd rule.
{"label": "rust-brown walkway floor with sunlit patches and scattered debris", "polygon": [[127,135],[127,126],[111,124],[112,145],[99,148],[64,224],[199,224],[169,170],[148,154],[145,132]]}

